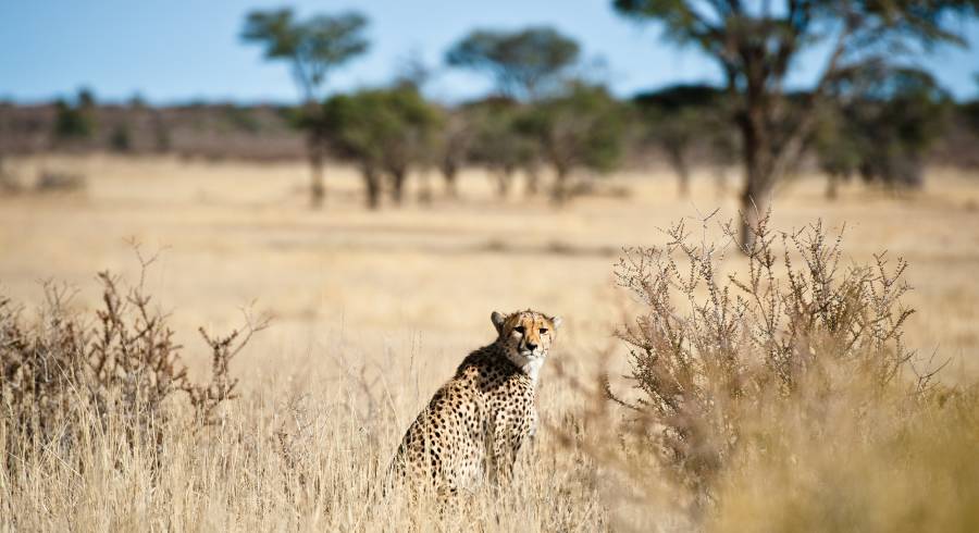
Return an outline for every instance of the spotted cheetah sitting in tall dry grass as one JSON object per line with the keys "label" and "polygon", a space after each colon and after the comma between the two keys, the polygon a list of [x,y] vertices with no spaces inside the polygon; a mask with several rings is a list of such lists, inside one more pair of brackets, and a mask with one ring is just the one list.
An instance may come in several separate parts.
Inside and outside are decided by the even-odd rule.
{"label": "spotted cheetah sitting in tall dry grass", "polygon": [[462,360],[405,433],[388,470],[395,481],[451,495],[511,476],[536,433],[537,377],[561,319],[528,309],[491,320],[496,340]]}

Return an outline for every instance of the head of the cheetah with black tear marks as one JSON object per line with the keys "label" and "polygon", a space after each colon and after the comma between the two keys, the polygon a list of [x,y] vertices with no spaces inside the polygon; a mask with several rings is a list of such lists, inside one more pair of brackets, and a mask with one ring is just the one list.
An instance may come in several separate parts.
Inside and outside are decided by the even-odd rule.
{"label": "head of the cheetah with black tear marks", "polygon": [[536,381],[557,329],[561,325],[561,318],[528,309],[511,314],[494,311],[490,319],[496,327],[499,335],[497,342],[504,346],[507,359]]}

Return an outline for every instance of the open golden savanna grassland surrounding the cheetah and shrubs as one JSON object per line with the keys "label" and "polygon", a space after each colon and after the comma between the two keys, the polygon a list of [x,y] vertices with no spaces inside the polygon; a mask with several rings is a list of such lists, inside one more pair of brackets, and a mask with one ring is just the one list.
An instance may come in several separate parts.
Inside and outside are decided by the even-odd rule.
{"label": "open golden savanna grassland surrounding the cheetah and shrubs", "polygon": [[[99,306],[97,272],[136,282],[134,241],[145,257],[159,252],[146,290],[168,314],[193,376],[209,364],[198,326],[239,327],[243,308],[273,319],[232,361],[240,397],[218,423],[168,431],[145,449],[109,431],[78,442],[71,450],[77,462],[40,450],[25,459],[29,474],[0,476],[2,530],[803,531],[818,523],[826,531],[965,531],[979,523],[975,507],[963,511],[975,501],[977,472],[955,461],[970,454],[979,425],[938,441],[913,434],[912,451],[894,457],[855,445],[846,459],[814,453],[786,460],[805,474],[794,485],[786,472],[795,467],[732,471],[715,493],[730,497],[696,513],[683,510],[689,501],[673,505],[679,488],[668,476],[644,483],[635,475],[642,459],[612,457],[621,444],[612,426],[624,414],[593,393],[603,371],[628,389],[615,379],[629,359],[614,332],[642,308],[617,287],[614,265],[623,247],[661,246],[660,230],[672,222],[690,218],[696,228],[696,219],[718,208],[714,220],[735,216],[733,172],[726,195],[711,176],[697,175],[691,197],[679,200],[665,172],[622,173],[560,210],[524,198],[520,187],[499,200],[479,171],[466,172],[462,198],[449,200],[433,174],[433,204],[416,201],[412,190],[406,206],[369,212],[347,168],[330,169],[326,204],[311,211],[307,169],[298,163],[49,157],[9,165],[24,175],[44,165],[87,176],[82,193],[0,198],[0,294],[25,307],[25,320],[41,307],[45,280],[75,287],[67,306],[79,313]],[[979,176],[935,169],[914,195],[851,184],[833,202],[822,181],[805,177],[785,184],[773,203],[777,230],[821,219],[834,234],[845,224],[846,263],[872,262],[884,250],[904,258],[914,288],[904,301],[917,310],[904,340],[919,351],[919,368],[947,361],[942,382],[975,381]],[[707,235],[721,238],[714,223]],[[736,272],[743,262],[731,253],[723,268]],[[466,352],[492,340],[491,311],[528,307],[560,314],[565,325],[544,369],[545,431],[520,466],[523,483],[481,493],[458,512],[382,495],[376,481],[412,417]],[[766,416],[792,419],[779,409]],[[845,442],[864,442],[852,419],[827,416],[840,417]],[[953,416],[925,417],[919,430],[940,434],[951,420],[943,417]],[[912,461],[901,470],[907,475],[894,474],[893,461],[912,456],[934,463]],[[853,468],[840,473],[834,460]],[[839,475],[822,485],[828,469]],[[944,492],[915,491],[921,479],[947,472],[963,478]],[[784,505],[759,488],[785,484],[793,489],[780,493]],[[814,499],[830,503],[801,504]],[[782,513],[778,525],[758,519],[772,509]]]}

